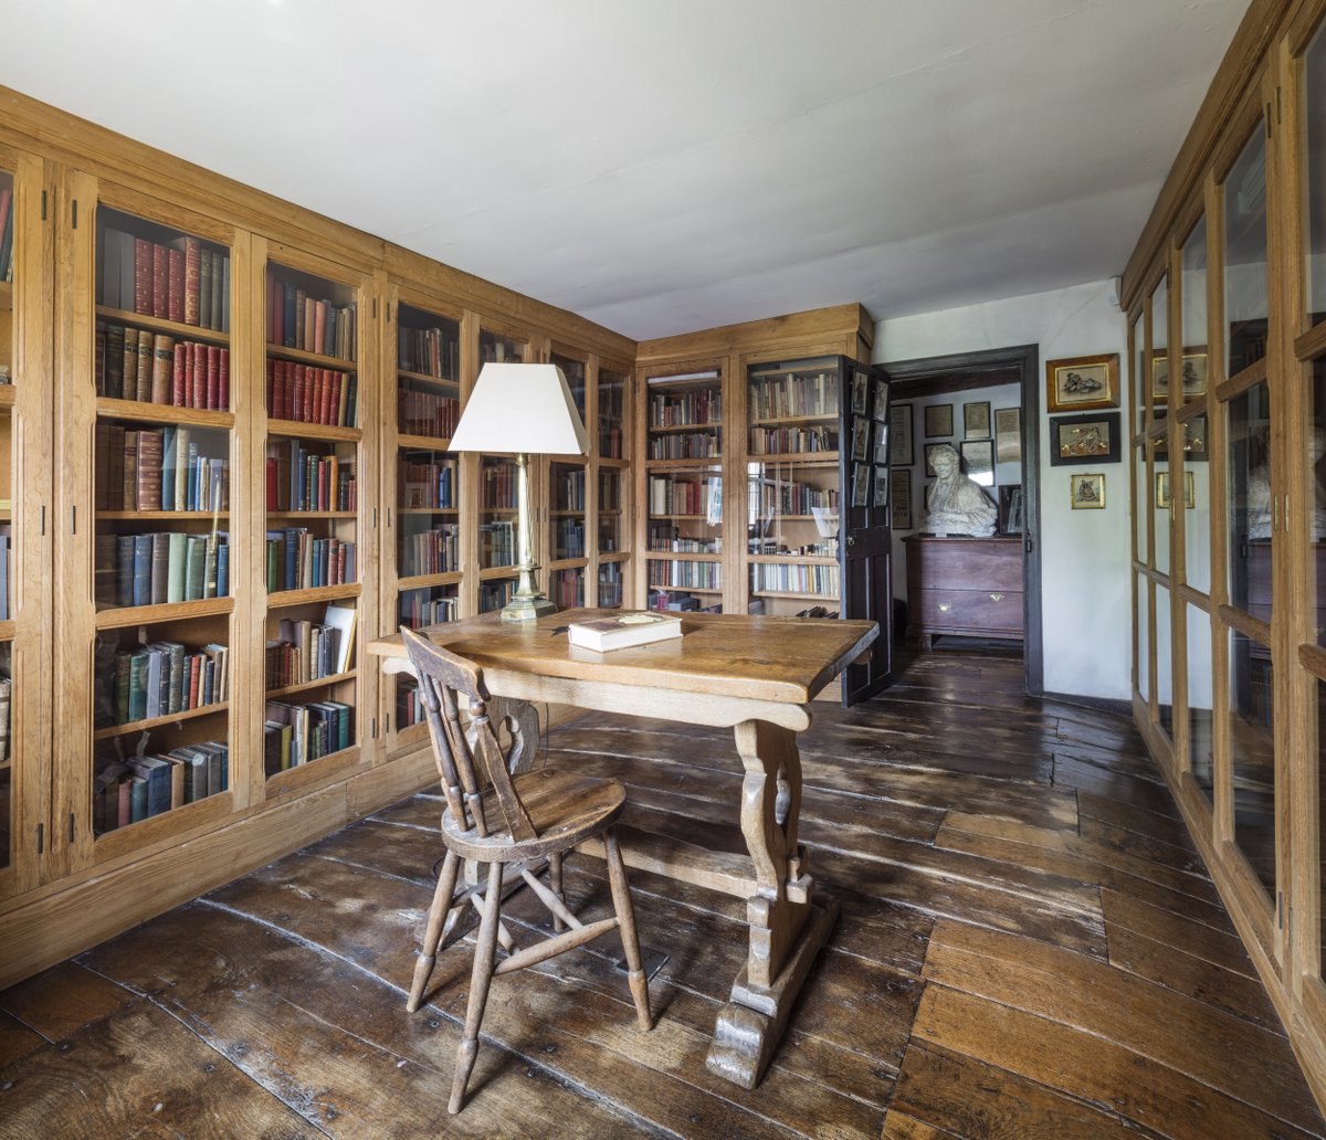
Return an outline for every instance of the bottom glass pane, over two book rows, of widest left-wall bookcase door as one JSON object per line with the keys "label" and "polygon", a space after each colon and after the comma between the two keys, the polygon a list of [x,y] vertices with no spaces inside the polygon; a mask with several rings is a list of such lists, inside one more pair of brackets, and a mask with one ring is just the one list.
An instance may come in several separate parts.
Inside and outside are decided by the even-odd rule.
{"label": "bottom glass pane, over two book rows, of widest left-wall bookcase door", "polygon": [[229,616],[99,630],[93,643],[97,835],[229,787]]}

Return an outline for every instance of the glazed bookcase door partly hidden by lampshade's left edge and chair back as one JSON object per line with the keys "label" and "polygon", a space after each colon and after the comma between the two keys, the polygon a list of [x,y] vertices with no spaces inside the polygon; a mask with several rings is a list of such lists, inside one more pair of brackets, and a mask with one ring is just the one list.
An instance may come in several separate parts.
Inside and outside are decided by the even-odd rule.
{"label": "glazed bookcase door partly hidden by lampshade's left edge and chair back", "polygon": [[[382,410],[386,494],[383,598],[387,628],[419,630],[460,616],[464,532],[461,464],[448,453],[461,407],[461,314],[427,302],[389,305]],[[412,677],[383,679],[387,752],[427,740]]]}

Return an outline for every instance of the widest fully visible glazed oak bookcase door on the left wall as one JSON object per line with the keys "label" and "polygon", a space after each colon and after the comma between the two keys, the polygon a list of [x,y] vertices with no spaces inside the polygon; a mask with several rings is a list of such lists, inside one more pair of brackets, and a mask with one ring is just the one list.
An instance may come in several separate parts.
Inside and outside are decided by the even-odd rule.
{"label": "widest fully visible glazed oak bookcase door on the left wall", "polygon": [[68,198],[56,668],[78,696],[56,732],[80,866],[248,802],[235,730],[248,594],[231,570],[251,547],[231,376],[249,261],[247,235],[206,216],[80,174]]}

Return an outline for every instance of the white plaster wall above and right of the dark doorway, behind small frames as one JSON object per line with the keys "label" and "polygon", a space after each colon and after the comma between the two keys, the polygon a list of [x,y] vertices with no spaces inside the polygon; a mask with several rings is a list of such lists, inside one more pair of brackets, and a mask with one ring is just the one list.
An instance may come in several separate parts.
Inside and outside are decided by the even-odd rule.
{"label": "white plaster wall above and right of the dark doorway, behind small frames", "polygon": [[[1127,331],[1110,281],[1009,297],[961,309],[879,321],[875,361],[910,361],[983,349],[1037,345],[1041,422],[1041,614],[1045,688],[1050,692],[1130,700],[1130,526],[1124,461],[1102,464],[1103,510],[1073,510],[1069,473],[1093,467],[1050,467],[1045,411],[1045,361],[1118,353],[1127,374]],[[1122,411],[1122,410],[1120,410]],[[1120,416],[1120,426],[1126,419]],[[918,426],[919,427],[919,426]],[[1025,428],[1029,431],[1032,426]],[[920,440],[918,439],[918,444]],[[902,573],[899,570],[899,573]],[[896,577],[896,575],[895,575]]]}

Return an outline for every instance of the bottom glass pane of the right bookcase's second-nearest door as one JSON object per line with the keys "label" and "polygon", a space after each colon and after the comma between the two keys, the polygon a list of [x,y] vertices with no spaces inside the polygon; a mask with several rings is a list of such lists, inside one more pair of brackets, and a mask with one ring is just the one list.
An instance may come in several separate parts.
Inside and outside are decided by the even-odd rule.
{"label": "bottom glass pane of the right bookcase's second-nearest door", "polygon": [[1276,897],[1276,757],[1270,650],[1229,634],[1229,765],[1235,843]]}

